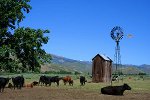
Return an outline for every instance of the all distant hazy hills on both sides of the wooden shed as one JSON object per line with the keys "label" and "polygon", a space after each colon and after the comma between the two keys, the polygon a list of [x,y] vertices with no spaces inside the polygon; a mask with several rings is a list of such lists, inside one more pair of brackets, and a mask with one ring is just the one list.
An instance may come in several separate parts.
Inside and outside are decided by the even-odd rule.
{"label": "all distant hazy hills on both sides of the wooden shed", "polygon": [[[57,56],[51,54],[52,56],[52,63],[45,64],[42,66],[42,71],[68,71],[68,72],[92,72],[92,62],[90,61],[80,61],[80,60],[73,60],[69,58],[65,58],[62,56]],[[113,71],[115,70],[115,65],[113,65]],[[138,74],[138,73],[147,73],[150,74],[150,65],[131,65],[126,64],[122,65],[122,72],[125,74]]]}

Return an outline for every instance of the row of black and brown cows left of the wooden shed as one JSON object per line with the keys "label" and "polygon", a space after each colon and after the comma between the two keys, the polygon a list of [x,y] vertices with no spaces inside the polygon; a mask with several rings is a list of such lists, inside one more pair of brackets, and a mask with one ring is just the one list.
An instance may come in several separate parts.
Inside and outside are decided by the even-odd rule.
{"label": "row of black and brown cows left of the wooden shed", "polygon": [[[9,80],[12,80],[12,83],[9,83]],[[16,76],[12,78],[0,77],[0,92],[4,91],[4,88],[8,84],[8,88],[21,89],[22,87],[33,87],[33,86],[51,86],[52,83],[56,83],[59,86],[59,81],[62,80],[64,85],[69,83],[70,86],[73,86],[73,80],[70,76],[59,77],[59,76],[46,76],[42,75],[39,78],[39,81],[33,81],[31,84],[25,84],[25,78],[23,76]],[[85,85],[87,80],[84,76],[80,76],[81,86]]]}

